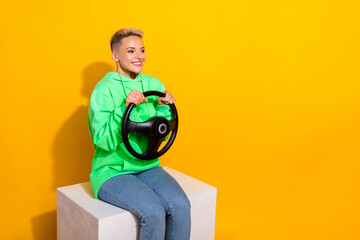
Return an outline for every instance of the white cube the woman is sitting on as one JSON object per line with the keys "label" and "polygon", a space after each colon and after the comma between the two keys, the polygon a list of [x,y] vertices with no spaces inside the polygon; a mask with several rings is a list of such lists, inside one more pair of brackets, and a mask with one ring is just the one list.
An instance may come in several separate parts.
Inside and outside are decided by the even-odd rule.
{"label": "white cube the woman is sitting on", "polygon": [[[191,240],[213,240],[217,189],[164,167],[184,189],[191,203]],[[58,240],[136,240],[138,218],[122,208],[95,199],[90,182],[57,189]]]}

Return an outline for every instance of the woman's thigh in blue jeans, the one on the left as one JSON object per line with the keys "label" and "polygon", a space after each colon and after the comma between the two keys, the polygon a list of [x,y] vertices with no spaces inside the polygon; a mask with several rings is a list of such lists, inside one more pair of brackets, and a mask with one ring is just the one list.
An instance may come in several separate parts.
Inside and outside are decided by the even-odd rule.
{"label": "woman's thigh in blue jeans, the one on the left", "polygon": [[98,196],[101,200],[126,209],[144,219],[154,212],[164,212],[157,195],[132,174],[118,175],[103,183]]}

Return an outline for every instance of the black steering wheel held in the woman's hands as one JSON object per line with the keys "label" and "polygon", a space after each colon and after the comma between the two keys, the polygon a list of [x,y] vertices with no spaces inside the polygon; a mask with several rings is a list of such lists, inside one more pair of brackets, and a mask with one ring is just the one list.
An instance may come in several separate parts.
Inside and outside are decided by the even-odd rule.
{"label": "black steering wheel held in the woman's hands", "polygon": [[[143,93],[145,97],[156,95],[158,97],[165,97],[165,93],[158,91],[147,91]],[[177,129],[179,118],[174,104],[169,104],[172,119],[169,121],[163,117],[154,117],[146,122],[133,122],[129,119],[131,111],[134,109],[135,104],[130,103],[127,107],[122,120],[122,139],[126,149],[136,158],[141,160],[152,160],[163,155],[173,144]],[[158,151],[161,143],[165,137],[172,131],[169,141],[163,149]],[[149,140],[149,147],[145,153],[137,153],[130,145],[128,134],[130,132],[140,133]]]}

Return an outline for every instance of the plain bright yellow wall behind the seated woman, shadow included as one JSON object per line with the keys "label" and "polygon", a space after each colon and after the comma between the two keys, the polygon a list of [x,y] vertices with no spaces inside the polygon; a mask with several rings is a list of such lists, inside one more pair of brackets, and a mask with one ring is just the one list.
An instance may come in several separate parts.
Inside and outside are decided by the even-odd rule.
{"label": "plain bright yellow wall behind the seated woman, shadow included", "polygon": [[162,165],[218,189],[216,239],[360,239],[359,6],[1,1],[0,239],[56,238],[56,188],[88,181],[89,97],[124,27],[176,98]]}

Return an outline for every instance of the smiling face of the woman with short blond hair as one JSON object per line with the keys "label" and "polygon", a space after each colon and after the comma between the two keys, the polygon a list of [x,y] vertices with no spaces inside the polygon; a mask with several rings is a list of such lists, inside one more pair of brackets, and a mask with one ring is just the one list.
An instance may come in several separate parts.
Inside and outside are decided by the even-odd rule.
{"label": "smiling face of the woman with short blond hair", "polygon": [[134,79],[142,71],[146,58],[142,39],[137,36],[122,39],[111,57],[116,61],[118,73]]}

